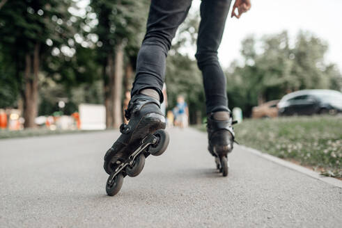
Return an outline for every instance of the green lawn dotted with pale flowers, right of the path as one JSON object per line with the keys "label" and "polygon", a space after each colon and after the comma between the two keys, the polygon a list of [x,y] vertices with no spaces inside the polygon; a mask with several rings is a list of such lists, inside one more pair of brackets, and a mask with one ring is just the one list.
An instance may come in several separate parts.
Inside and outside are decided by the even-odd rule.
{"label": "green lawn dotted with pale flowers, right of the path", "polygon": [[341,116],[244,120],[234,130],[242,145],[342,177]]}

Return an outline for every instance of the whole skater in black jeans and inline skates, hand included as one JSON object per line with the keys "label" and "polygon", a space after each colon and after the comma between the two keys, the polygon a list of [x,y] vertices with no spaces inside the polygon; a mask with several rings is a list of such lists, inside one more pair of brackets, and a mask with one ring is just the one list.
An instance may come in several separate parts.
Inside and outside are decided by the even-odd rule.
{"label": "whole skater in black jeans and inline skates, hand included", "polygon": [[[130,122],[121,125],[121,136],[104,155],[104,170],[111,174],[106,186],[108,195],[118,193],[125,174],[133,177],[141,172],[145,158],[140,156],[143,149],[138,148],[138,152],[136,149],[141,144],[149,143],[151,137],[146,136],[157,132],[155,137],[159,140],[154,140],[154,146],[150,147],[153,152],[155,149],[161,149],[161,152],[156,154],[161,154],[169,143],[167,133],[161,130],[165,129],[166,121],[160,110],[160,103],[164,100],[162,88],[165,81],[166,56],[178,26],[187,17],[191,4],[192,0],[150,1],[146,35],[137,58],[132,99],[125,112],[125,117]],[[217,167],[221,165],[220,170],[224,176],[228,174],[227,154],[233,149],[234,132],[226,96],[226,77],[219,65],[217,49],[221,43],[230,6],[231,0],[201,1],[201,24],[196,52],[205,89],[208,148],[217,158],[216,161],[219,161]],[[231,17],[239,18],[249,8],[250,0],[235,0]],[[235,10],[238,10],[238,14]],[[134,151],[137,160],[134,160],[133,164],[129,158]]]}

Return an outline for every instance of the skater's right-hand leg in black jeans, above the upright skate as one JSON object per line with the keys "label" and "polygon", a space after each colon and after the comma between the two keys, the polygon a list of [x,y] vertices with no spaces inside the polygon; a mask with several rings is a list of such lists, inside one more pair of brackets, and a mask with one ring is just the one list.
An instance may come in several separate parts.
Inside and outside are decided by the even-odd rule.
{"label": "skater's right-hand leg in black jeans, above the upright skate", "polygon": [[219,65],[217,49],[221,43],[230,6],[231,0],[201,2],[196,59],[203,74],[207,113],[228,111],[226,76]]}

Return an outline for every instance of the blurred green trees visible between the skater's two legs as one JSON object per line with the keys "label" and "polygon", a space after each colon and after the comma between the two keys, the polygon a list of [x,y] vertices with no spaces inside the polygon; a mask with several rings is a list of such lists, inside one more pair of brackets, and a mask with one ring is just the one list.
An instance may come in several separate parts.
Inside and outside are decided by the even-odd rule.
{"label": "blurred green trees visible between the skater's two legs", "polygon": [[[194,56],[189,56],[187,51],[190,48],[196,48],[198,26],[199,14],[189,13],[185,22],[178,29],[166,60],[169,109],[176,106],[178,95],[184,95],[189,106],[189,120],[193,124],[199,124],[201,117],[205,115],[202,74]],[[186,51],[183,51],[184,48]]]}

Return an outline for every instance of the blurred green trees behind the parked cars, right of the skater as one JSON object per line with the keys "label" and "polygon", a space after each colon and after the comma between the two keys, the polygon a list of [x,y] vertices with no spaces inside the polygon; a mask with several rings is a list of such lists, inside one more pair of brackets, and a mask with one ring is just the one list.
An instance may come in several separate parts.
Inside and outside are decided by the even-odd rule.
{"label": "blurred green trees behind the parked cars, right of the skater", "polygon": [[341,90],[341,73],[326,63],[324,41],[300,31],[294,47],[289,42],[286,32],[242,41],[244,65],[235,62],[227,70],[231,108],[238,106],[249,115],[253,106],[295,90]]}

